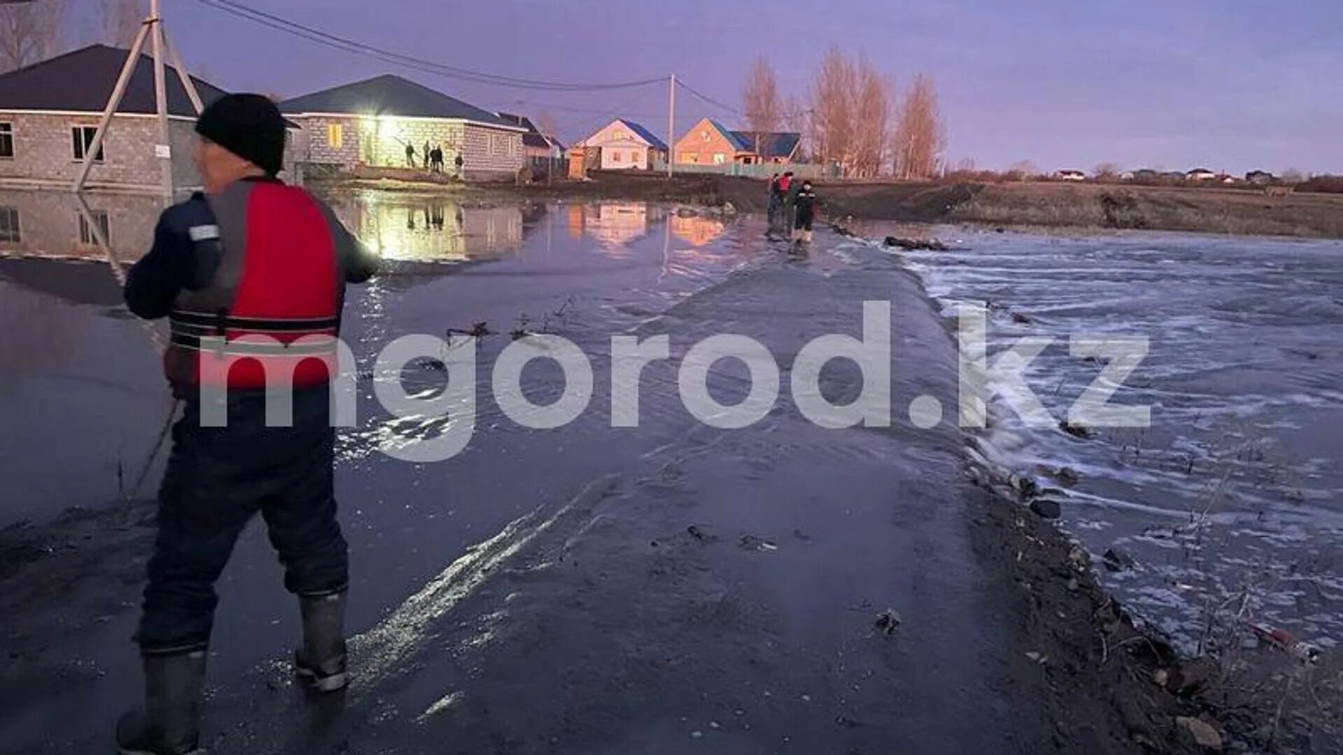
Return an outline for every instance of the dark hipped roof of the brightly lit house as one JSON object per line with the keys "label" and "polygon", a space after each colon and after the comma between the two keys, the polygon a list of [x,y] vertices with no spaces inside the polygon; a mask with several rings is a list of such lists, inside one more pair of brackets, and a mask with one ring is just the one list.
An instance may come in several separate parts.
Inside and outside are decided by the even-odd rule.
{"label": "dark hipped roof of the brightly lit house", "polygon": [[442,91],[415,83],[395,74],[383,74],[279,103],[289,114],[334,113],[351,116],[403,116],[411,118],[449,118],[478,124],[518,128],[489,110],[467,105]]}

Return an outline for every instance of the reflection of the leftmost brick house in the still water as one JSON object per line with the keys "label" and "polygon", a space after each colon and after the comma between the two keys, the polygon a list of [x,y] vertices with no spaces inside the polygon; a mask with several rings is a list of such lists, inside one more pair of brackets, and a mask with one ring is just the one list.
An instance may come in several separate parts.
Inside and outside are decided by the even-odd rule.
{"label": "reflection of the leftmost brick house in the still water", "polygon": [[149,251],[163,210],[157,196],[86,192],[83,200],[87,215],[70,192],[0,191],[0,257],[103,261],[99,234],[121,262]]}

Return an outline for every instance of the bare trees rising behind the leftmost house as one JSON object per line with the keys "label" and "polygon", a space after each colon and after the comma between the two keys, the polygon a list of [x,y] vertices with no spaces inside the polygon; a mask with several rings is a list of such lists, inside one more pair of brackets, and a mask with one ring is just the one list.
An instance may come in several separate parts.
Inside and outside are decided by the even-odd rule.
{"label": "bare trees rising behind the leftmost house", "polygon": [[129,47],[146,15],[146,0],[34,0],[0,4],[0,71],[12,71],[58,55],[68,47],[68,40]]}

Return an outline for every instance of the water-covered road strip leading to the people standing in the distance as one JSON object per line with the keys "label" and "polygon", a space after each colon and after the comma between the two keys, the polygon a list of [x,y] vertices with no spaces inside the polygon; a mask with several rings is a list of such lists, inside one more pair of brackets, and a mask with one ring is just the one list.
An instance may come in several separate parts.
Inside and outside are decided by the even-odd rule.
{"label": "water-covered road strip leading to the people standing in the distance", "polygon": [[[1033,701],[1011,693],[1007,611],[968,544],[960,431],[904,414],[919,395],[955,406],[944,326],[876,250],[756,243],[751,265],[633,328],[669,335],[677,357],[646,368],[639,429],[608,427],[599,387],[573,425],[478,458],[494,485],[422,486],[415,506],[516,504],[497,485],[510,474],[544,493],[355,641],[340,715],[295,729],[314,711],[282,668],[261,672],[220,696],[219,751],[309,752],[318,736],[407,754],[1038,751],[1052,731],[1018,724]],[[892,302],[892,429],[821,429],[787,390],[741,430],[681,407],[690,344],[747,335],[788,365],[815,336],[861,336],[864,300]],[[561,332],[598,355],[607,335]],[[721,367],[710,392],[735,403],[744,369]],[[823,372],[835,402],[860,388],[846,367]]]}

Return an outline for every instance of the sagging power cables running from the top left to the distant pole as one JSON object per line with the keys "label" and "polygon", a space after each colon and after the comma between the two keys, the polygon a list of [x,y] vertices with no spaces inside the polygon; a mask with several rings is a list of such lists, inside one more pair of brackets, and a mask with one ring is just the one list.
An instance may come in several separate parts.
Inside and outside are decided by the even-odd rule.
{"label": "sagging power cables running from the top left to the distant pole", "polygon": [[654,83],[663,83],[667,81],[666,77],[659,77],[659,78],[649,78],[649,79],[629,81],[629,82],[573,83],[573,82],[526,79],[518,77],[489,74],[483,71],[475,71],[471,69],[463,69],[461,66],[438,63],[435,60],[427,60],[424,58],[415,58],[412,55],[403,55],[400,52],[395,52],[383,47],[338,36],[306,24],[301,24],[298,21],[291,21],[289,19],[277,16],[274,13],[267,13],[257,8],[235,3],[234,0],[196,0],[196,1],[210,8],[231,13],[240,19],[246,19],[277,31],[283,31],[286,34],[306,39],[309,42],[325,44],[328,47],[334,47],[345,52],[355,52],[369,58],[377,58],[380,60],[395,63],[408,69],[434,73],[443,77],[458,78],[475,83],[486,83],[493,86],[512,87],[512,89],[545,90],[545,91],[604,91],[612,89],[633,89],[633,87],[649,86]]}

